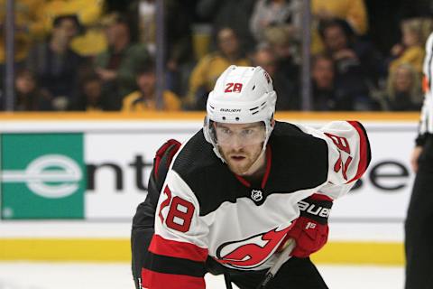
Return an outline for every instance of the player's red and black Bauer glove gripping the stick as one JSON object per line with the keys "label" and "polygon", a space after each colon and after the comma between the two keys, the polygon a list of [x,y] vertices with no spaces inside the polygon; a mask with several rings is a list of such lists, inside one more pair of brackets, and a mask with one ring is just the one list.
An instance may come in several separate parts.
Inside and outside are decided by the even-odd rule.
{"label": "player's red and black Bauer glove gripping the stick", "polygon": [[288,233],[296,241],[291,256],[308,257],[327,243],[327,218],[332,207],[332,199],[325,195],[313,194],[298,203],[300,216]]}

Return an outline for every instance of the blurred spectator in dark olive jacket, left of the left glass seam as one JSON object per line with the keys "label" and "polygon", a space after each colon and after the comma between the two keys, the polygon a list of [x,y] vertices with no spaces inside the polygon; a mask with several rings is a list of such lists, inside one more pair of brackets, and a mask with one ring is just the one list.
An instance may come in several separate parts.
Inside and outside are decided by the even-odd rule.
{"label": "blurred spectator in dark olive jacket, left of the left glass seam", "polygon": [[122,98],[136,89],[134,71],[149,61],[149,53],[142,44],[131,42],[129,25],[120,14],[109,14],[103,20],[108,48],[97,55],[95,70],[104,83],[104,90],[117,95],[115,107]]}

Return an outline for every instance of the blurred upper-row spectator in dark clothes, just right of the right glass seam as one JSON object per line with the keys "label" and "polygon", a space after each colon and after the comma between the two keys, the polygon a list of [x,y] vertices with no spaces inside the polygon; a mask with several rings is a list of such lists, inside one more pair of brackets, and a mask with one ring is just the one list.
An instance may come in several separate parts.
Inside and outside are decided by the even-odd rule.
{"label": "blurred upper-row spectator in dark clothes, just right of the right glass seam", "polygon": [[[325,44],[326,53],[336,66],[336,83],[344,89],[345,104],[340,109],[368,110],[372,108],[369,96],[370,82],[377,83],[378,65],[376,54],[371,47],[355,42],[355,34],[342,20],[330,20],[319,26],[319,33]],[[369,81],[370,80],[370,81]]]}

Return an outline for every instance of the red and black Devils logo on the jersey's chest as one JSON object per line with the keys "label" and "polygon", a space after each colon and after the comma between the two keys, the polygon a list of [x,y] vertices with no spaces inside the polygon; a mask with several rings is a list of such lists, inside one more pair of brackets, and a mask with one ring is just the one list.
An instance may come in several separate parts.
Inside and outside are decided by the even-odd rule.
{"label": "red and black Devils logo on the jersey's chest", "polygon": [[217,248],[217,261],[236,269],[261,266],[280,246],[290,228],[274,228],[244,240],[224,243]]}

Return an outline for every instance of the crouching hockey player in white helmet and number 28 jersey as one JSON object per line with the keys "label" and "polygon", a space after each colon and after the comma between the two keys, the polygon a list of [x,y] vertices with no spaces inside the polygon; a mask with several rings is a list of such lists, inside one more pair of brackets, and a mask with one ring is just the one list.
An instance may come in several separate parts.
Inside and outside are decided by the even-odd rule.
{"label": "crouching hockey player in white helmet and number 28 jersey", "polygon": [[291,238],[292,257],[267,288],[327,288],[309,255],[327,242],[332,202],[363,175],[370,145],[356,121],[275,121],[275,102],[265,70],[231,66],[203,129],[161,147],[134,216],[137,287],[205,288],[210,272],[253,289]]}

